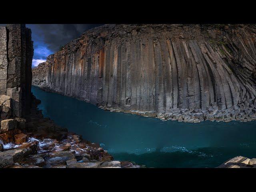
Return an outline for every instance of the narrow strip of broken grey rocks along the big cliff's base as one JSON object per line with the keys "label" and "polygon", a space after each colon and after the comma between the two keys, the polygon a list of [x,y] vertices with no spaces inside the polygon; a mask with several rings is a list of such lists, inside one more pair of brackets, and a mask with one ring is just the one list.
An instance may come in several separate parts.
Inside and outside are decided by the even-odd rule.
{"label": "narrow strip of broken grey rocks along the big cliff's base", "polygon": [[[45,92],[53,92],[57,94],[61,94],[63,96],[67,96],[63,94],[62,92],[58,92],[52,88],[49,88],[48,86],[40,86],[40,85],[33,85],[38,86],[41,90]],[[70,96],[68,96],[70,97]],[[75,97],[72,97],[75,98]],[[75,98],[78,100],[81,100],[79,98]],[[86,100],[81,100],[84,102],[88,102]],[[90,103],[90,102],[89,102]],[[95,104],[96,105],[96,104]],[[129,110],[130,106],[127,106],[126,109],[121,109],[118,107],[111,107],[111,106],[98,106],[98,108],[101,108],[103,110],[108,110],[110,112],[123,112],[123,113],[129,113],[129,114],[136,114],[139,116],[144,117],[153,117],[158,118],[162,121],[167,120],[177,120],[178,122],[188,122],[188,123],[200,123],[202,121],[216,121],[216,122],[230,122],[230,121],[240,121],[240,122],[250,122],[256,120],[256,108],[245,108],[242,106],[239,108],[238,106],[234,107],[235,109],[224,109],[224,110],[218,110],[217,105],[212,105],[208,107],[208,110],[201,110],[196,109],[194,112],[189,113],[188,109],[172,109],[169,113],[162,113],[162,114],[156,114],[156,112],[152,111],[139,111],[139,110]]]}

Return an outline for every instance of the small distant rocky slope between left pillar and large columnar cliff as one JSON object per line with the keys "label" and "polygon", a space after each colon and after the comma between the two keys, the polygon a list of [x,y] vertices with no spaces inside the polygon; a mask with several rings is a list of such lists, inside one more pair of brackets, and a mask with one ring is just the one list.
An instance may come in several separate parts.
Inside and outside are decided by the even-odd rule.
{"label": "small distant rocky slope between left pillar and large columnar cliff", "polygon": [[46,86],[47,67],[46,62],[38,64],[32,69],[32,85]]}

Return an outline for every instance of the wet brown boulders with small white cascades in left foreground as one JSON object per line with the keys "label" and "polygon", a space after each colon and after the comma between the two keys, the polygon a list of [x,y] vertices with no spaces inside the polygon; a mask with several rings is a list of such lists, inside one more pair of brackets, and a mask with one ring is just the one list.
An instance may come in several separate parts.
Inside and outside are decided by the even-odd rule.
{"label": "wet brown boulders with small white cascades in left foreground", "polygon": [[[10,100],[1,96],[1,102],[3,98]],[[1,121],[0,168],[143,167],[134,162],[114,161],[99,144],[83,140],[82,136],[44,118],[38,104],[40,100],[33,96],[31,113],[24,119]]]}

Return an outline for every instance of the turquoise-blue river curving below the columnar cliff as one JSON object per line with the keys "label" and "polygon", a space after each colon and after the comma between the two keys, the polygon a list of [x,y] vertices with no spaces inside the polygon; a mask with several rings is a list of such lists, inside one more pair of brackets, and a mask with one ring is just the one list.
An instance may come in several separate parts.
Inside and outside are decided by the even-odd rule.
{"label": "turquoise-blue river curving below the columnar cliff", "polygon": [[109,112],[32,86],[38,106],[70,132],[100,146],[115,160],[156,168],[216,167],[235,156],[256,157],[256,122],[161,121]]}

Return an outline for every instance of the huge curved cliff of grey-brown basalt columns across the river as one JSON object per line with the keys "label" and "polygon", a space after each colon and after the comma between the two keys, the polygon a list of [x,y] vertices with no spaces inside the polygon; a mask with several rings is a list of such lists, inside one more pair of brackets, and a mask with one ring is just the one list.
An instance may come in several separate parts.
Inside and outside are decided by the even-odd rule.
{"label": "huge curved cliff of grey-brown basalt columns across the river", "polygon": [[162,120],[250,121],[255,38],[255,25],[104,25],[48,56],[46,88]]}

